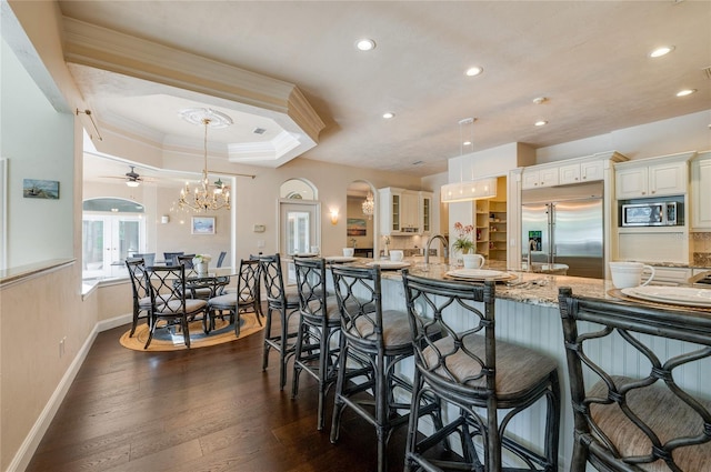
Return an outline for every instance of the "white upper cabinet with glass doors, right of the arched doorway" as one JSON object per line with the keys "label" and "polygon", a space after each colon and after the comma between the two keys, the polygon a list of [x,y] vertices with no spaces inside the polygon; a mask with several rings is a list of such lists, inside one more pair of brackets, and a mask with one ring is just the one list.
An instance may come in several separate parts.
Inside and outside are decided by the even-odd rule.
{"label": "white upper cabinet with glass doors, right of the arched doorway", "polygon": [[422,234],[429,232],[432,193],[387,187],[380,195],[380,232],[382,234]]}

